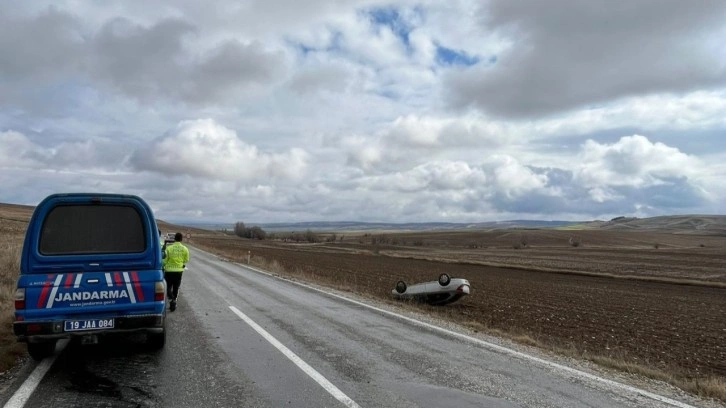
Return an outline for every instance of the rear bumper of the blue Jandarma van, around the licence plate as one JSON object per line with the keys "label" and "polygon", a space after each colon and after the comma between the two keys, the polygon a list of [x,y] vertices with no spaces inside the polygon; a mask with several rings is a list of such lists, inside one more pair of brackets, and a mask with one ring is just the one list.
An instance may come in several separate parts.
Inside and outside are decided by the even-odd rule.
{"label": "rear bumper of the blue Jandarma van, around the licence plate", "polygon": [[67,319],[44,320],[44,321],[20,321],[13,323],[13,332],[20,342],[35,343],[44,340],[67,339],[74,336],[85,336],[88,334],[113,334],[113,333],[163,333],[163,314],[144,314],[134,316],[114,317],[114,328],[103,330],[73,331],[66,332],[63,329],[64,321]]}

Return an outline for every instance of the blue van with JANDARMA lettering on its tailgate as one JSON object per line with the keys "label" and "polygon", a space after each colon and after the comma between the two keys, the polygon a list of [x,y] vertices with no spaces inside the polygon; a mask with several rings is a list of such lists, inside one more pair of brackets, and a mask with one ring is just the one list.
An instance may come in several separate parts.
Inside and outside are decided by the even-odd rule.
{"label": "blue van with JANDARMA lettering on its tailgate", "polygon": [[166,341],[166,285],[151,208],[121,194],[54,194],[35,209],[23,244],[13,330],[36,360],[58,339],[141,331]]}

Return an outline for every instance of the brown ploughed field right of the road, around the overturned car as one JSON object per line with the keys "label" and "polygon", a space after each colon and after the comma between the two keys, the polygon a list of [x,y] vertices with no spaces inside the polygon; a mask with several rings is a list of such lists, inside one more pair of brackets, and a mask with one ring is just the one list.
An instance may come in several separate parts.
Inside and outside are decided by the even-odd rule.
{"label": "brown ploughed field right of the road, around the overturned car", "polygon": [[[623,237],[624,233],[618,234]],[[627,240],[623,238],[621,244]],[[390,299],[399,279],[435,280],[446,272],[468,279],[471,295],[446,307],[427,309],[473,328],[526,335],[542,345],[611,357],[683,378],[726,377],[726,288],[638,280],[639,276],[664,275],[718,285],[724,282],[724,257],[713,249],[600,247],[594,253],[584,248],[568,248],[567,254],[553,248],[517,252],[521,255],[515,264],[546,264],[565,272],[556,273],[477,264],[482,259],[457,257],[442,244],[428,248],[285,244],[209,234],[195,236],[192,243],[238,261],[246,260],[250,251],[253,258],[275,260],[291,274],[384,299]],[[498,263],[514,259],[512,253],[502,255],[506,251],[499,248]],[[459,255],[465,252],[460,250]],[[400,257],[412,253],[445,261]],[[575,272],[628,279],[571,273],[583,262],[589,267]]]}

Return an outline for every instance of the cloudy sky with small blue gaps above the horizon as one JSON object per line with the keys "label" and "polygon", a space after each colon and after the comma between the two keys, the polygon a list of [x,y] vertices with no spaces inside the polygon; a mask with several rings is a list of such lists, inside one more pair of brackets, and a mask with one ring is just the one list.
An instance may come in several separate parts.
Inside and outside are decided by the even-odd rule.
{"label": "cloudy sky with small blue gaps above the horizon", "polygon": [[0,202],[726,214],[726,2],[0,0]]}

